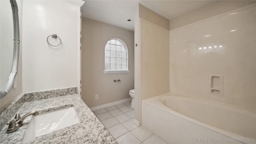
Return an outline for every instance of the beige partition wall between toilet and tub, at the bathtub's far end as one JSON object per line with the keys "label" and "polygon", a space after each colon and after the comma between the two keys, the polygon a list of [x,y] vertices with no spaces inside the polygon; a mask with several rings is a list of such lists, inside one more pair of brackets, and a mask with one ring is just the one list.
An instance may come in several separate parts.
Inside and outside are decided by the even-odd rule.
{"label": "beige partition wall between toilet and tub, at the bathtub's far end", "polygon": [[169,20],[138,4],[134,22],[134,119],[140,122],[141,100],[169,92]]}

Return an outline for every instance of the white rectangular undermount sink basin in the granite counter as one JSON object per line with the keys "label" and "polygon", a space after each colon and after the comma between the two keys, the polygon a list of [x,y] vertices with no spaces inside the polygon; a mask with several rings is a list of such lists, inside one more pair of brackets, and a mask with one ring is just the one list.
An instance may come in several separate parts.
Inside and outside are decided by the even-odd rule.
{"label": "white rectangular undermount sink basin in the granite counter", "polygon": [[74,107],[55,110],[33,116],[24,134],[23,141],[27,142],[38,136],[80,123]]}

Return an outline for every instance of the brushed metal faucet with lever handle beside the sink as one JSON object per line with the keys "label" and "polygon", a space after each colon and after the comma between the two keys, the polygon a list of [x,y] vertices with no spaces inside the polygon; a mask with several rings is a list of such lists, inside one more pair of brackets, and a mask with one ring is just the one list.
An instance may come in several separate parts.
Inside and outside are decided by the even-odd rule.
{"label": "brushed metal faucet with lever handle beside the sink", "polygon": [[15,114],[14,119],[11,120],[10,122],[7,122],[8,129],[7,129],[7,133],[11,133],[14,132],[16,130],[18,130],[20,128],[20,126],[22,126],[22,122],[23,120],[28,117],[28,116],[36,116],[38,115],[38,112],[33,111],[33,112],[29,112],[28,114],[25,114],[24,116],[20,117],[20,110]]}

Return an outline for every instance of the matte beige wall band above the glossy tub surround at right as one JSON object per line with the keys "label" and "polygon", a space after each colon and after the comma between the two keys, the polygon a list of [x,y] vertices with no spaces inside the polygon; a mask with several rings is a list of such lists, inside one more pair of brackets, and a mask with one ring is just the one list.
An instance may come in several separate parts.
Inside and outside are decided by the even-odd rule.
{"label": "matte beige wall band above the glossy tub surround at right", "polygon": [[256,0],[217,0],[216,2],[212,2],[202,8],[198,8],[192,12],[188,12],[170,20],[169,30],[197,22],[199,20],[204,20],[230,10],[248,6],[253,3],[256,3]]}

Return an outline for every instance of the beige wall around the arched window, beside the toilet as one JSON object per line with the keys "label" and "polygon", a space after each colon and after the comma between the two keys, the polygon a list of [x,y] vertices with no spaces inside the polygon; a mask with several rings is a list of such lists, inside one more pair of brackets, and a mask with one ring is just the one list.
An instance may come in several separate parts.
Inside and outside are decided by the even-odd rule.
{"label": "beige wall around the arched window, beside the toilet", "polygon": [[[104,74],[104,48],[118,38],[128,49],[129,73]],[[134,32],[82,17],[82,100],[88,107],[130,98],[134,89]],[[120,79],[121,82],[113,82]],[[98,94],[98,100],[95,95]]]}

